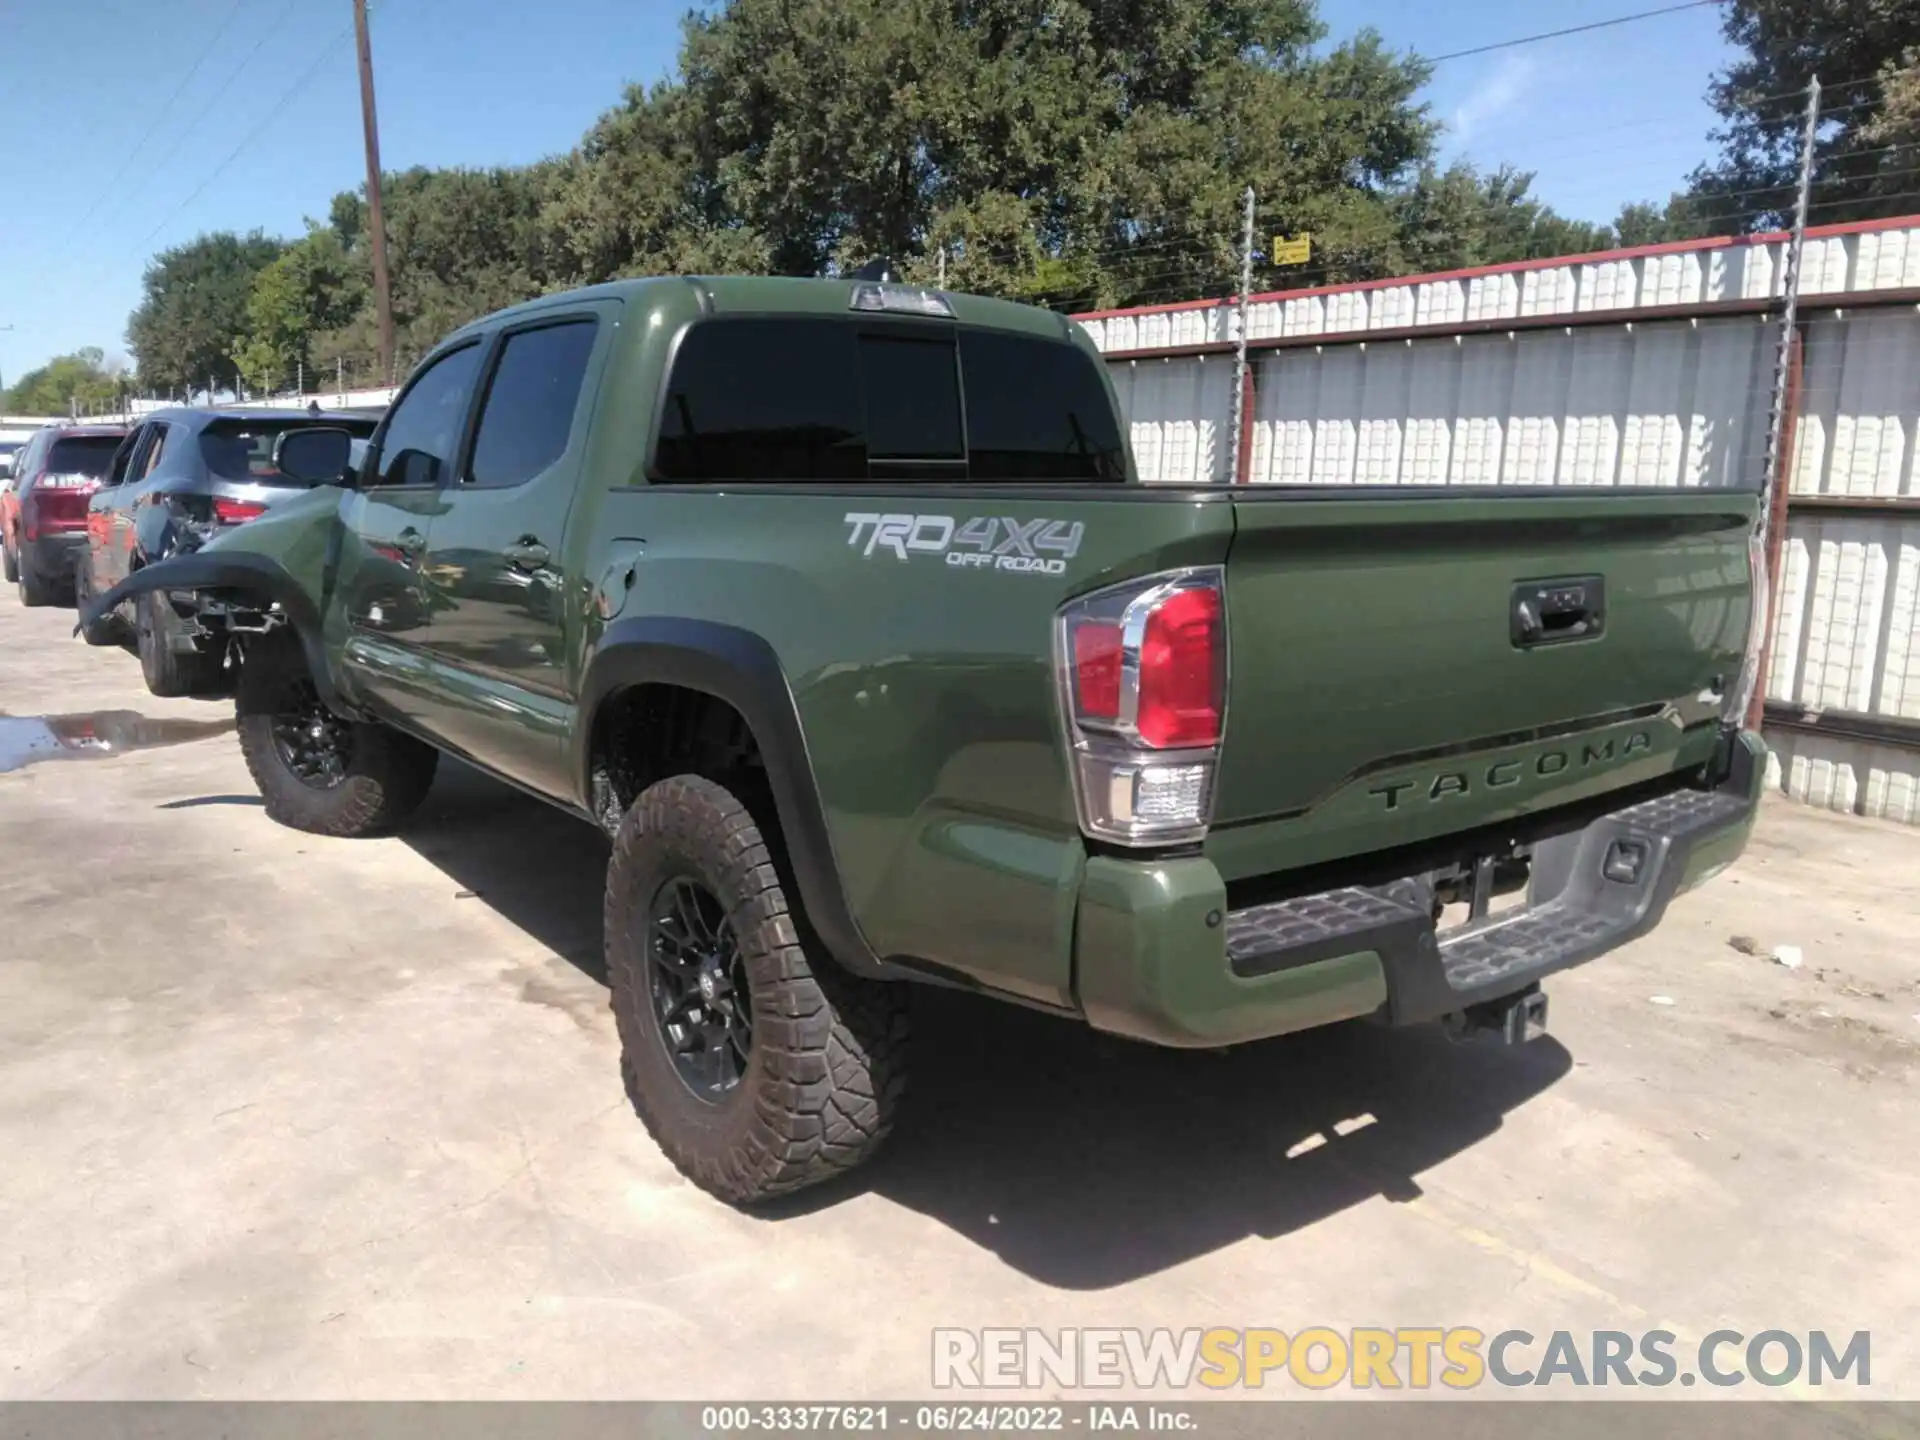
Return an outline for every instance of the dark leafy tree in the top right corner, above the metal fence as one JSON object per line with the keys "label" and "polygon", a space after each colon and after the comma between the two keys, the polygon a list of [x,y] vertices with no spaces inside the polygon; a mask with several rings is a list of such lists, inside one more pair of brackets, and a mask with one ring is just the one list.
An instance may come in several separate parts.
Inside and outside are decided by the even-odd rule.
{"label": "dark leafy tree in the top right corner, above the metal fence", "polygon": [[1743,54],[1709,90],[1720,157],[1693,175],[1692,204],[1716,232],[1791,217],[1805,88],[1822,84],[1814,146],[1816,225],[1914,209],[1920,184],[1920,6],[1912,0],[1728,0]]}

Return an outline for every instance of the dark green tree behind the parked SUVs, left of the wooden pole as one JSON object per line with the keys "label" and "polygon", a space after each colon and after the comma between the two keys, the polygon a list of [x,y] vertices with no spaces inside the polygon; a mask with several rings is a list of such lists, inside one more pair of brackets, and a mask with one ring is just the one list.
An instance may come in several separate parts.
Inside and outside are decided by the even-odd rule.
{"label": "dark green tree behind the parked SUVs, left of the wooden pole", "polygon": [[259,230],[217,230],[154,257],[144,296],[127,321],[127,344],[140,382],[154,390],[232,384],[236,351],[248,334],[253,276],[284,250]]}

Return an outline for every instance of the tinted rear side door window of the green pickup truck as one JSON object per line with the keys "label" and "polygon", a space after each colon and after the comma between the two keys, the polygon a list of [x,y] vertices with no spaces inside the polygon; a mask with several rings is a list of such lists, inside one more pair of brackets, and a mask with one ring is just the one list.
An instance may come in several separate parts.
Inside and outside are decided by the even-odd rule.
{"label": "tinted rear side door window of the green pickup truck", "polygon": [[593,321],[568,321],[507,336],[480,411],[472,484],[518,486],[566,453],[593,332]]}

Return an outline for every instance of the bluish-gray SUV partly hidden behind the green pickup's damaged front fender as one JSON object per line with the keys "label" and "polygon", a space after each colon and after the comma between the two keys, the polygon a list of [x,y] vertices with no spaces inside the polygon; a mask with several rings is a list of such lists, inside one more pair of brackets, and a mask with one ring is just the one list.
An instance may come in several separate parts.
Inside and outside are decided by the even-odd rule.
{"label": "bluish-gray SUV partly hidden behind the green pickup's damaged front fender", "polygon": [[[200,549],[221,530],[246,524],[309,486],[275,463],[284,436],[315,426],[365,440],[378,424],[367,411],[228,407],[177,409],[146,417],[121,444],[86,511],[86,549],[75,591],[111,589],[144,564]],[[84,628],[90,645],[132,637],[140,672],[156,695],[213,695],[227,657],[163,591],[131,601]]]}

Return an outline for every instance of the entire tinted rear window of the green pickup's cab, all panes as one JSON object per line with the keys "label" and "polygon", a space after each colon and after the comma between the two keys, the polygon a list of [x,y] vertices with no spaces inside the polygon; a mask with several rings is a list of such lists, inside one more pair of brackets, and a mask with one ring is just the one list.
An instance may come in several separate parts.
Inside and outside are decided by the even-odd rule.
{"label": "entire tinted rear window of the green pickup's cab, all panes", "polygon": [[653,476],[1114,482],[1127,465],[1098,363],[1064,340],[755,317],[682,338]]}

